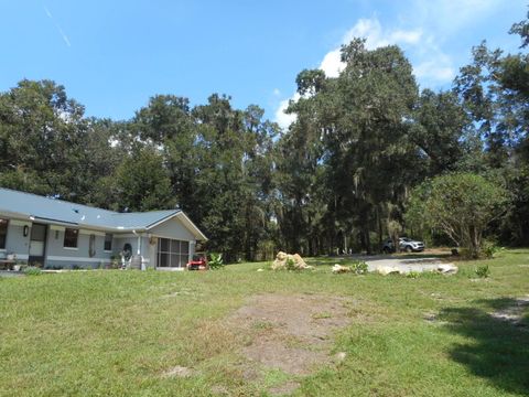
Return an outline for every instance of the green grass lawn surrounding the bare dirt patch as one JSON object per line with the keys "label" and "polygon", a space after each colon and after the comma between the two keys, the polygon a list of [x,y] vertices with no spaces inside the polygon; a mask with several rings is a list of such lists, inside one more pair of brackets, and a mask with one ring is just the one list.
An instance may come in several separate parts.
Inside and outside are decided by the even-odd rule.
{"label": "green grass lawn surrounding the bare dirt patch", "polygon": [[[490,277],[476,281],[485,262]],[[489,315],[529,294],[529,267],[520,266],[529,265],[529,250],[460,261],[450,277],[332,275],[332,259],[309,264],[319,266],[306,272],[257,272],[263,264],[244,264],[208,272],[0,278],[0,395],[266,395],[290,377],[273,369],[245,377],[238,348],[251,339],[222,321],[264,292],[357,302],[332,352],[346,358],[296,378],[296,395],[529,395],[529,313],[521,326]],[[194,375],[163,376],[177,365]]]}

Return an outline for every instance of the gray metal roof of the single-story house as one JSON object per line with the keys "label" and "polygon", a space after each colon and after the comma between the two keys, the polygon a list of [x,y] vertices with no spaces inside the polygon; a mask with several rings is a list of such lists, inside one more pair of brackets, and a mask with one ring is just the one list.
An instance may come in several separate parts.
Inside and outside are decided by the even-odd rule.
{"label": "gray metal roof of the single-story house", "polygon": [[[141,230],[180,214],[182,211],[117,213],[0,187],[0,213],[21,218],[34,218],[46,223],[71,224],[79,227],[91,226],[109,230]],[[193,227],[196,228],[194,225]],[[196,232],[202,235],[198,228],[196,228]]]}

